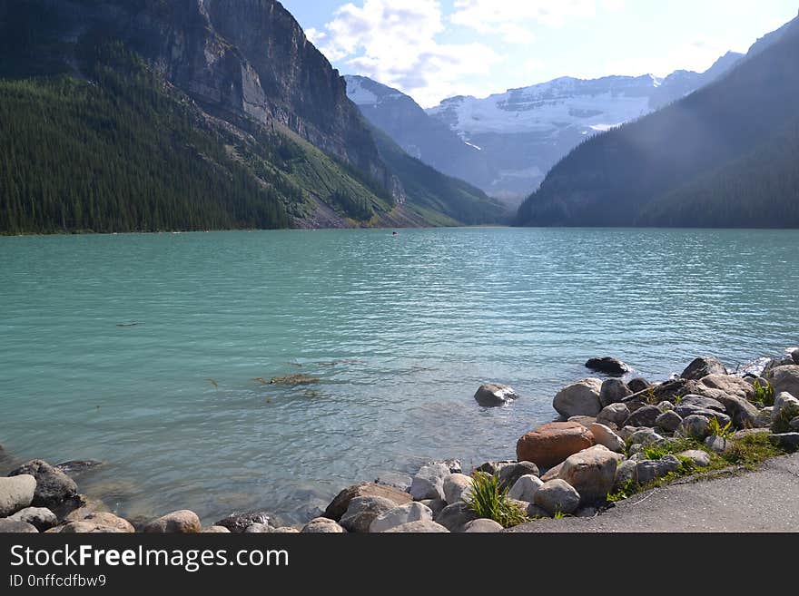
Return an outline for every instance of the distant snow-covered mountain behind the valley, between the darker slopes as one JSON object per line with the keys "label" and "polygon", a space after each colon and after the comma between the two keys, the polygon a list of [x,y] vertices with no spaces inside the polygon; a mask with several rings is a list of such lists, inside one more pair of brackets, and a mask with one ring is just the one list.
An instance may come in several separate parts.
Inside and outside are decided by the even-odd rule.
{"label": "distant snow-covered mountain behind the valley, between the darker slopes", "polygon": [[[464,180],[491,196],[520,202],[580,142],[694,92],[724,75],[741,58],[741,54],[726,54],[705,73],[677,71],[665,79],[651,74],[589,81],[564,77],[485,99],[449,98],[427,113],[479,149],[480,167],[462,165],[459,153],[439,153],[437,163],[446,173],[457,168]],[[371,122],[392,136],[392,131],[419,128],[396,121],[390,129],[381,125],[393,118],[400,120],[400,116],[374,114],[391,111],[395,103],[380,102],[368,110],[356,103]],[[403,147],[420,144],[413,137],[394,138]],[[422,154],[420,159],[432,163],[429,155]]]}

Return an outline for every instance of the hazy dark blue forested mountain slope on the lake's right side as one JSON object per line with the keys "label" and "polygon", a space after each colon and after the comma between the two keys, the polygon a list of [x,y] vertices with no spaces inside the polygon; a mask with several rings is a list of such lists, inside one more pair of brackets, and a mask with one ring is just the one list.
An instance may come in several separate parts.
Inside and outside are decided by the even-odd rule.
{"label": "hazy dark blue forested mountain slope on the lake's right side", "polygon": [[769,39],[717,82],[583,143],[518,223],[799,226],[799,19]]}

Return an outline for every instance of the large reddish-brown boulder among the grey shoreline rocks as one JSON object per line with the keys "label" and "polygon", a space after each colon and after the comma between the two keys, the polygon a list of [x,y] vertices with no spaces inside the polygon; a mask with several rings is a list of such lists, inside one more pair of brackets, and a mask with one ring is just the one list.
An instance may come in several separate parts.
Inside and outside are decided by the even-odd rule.
{"label": "large reddish-brown boulder among the grey shoreline rocks", "polygon": [[520,462],[532,462],[539,468],[549,468],[592,445],[594,436],[585,426],[573,422],[553,422],[538,426],[522,436],[516,445],[516,454]]}

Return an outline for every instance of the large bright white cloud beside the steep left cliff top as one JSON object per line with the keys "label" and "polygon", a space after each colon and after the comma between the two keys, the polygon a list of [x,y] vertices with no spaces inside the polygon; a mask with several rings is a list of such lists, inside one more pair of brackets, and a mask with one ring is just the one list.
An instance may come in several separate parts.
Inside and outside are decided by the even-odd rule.
{"label": "large bright white cloud beside the steep left cliff top", "polygon": [[445,23],[438,0],[349,3],[336,10],[324,29],[306,34],[330,61],[409,93],[423,106],[454,94],[478,93],[463,79],[487,75],[501,60],[486,44],[439,43]]}

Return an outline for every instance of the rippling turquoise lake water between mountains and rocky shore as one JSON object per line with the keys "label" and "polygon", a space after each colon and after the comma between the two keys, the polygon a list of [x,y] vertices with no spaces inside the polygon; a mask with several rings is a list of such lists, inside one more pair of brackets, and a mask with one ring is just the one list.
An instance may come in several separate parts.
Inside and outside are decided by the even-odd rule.
{"label": "rippling turquoise lake water between mountains and rocky shore", "polygon": [[[657,379],[799,344],[797,247],[759,230],[0,238],[5,471],[97,459],[81,490],[123,515],[303,521],[429,459],[513,458],[588,357]],[[253,380],[298,374],[320,383]],[[485,381],[523,397],[484,410]]]}

